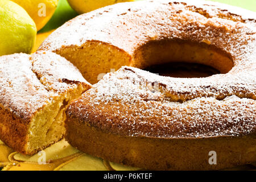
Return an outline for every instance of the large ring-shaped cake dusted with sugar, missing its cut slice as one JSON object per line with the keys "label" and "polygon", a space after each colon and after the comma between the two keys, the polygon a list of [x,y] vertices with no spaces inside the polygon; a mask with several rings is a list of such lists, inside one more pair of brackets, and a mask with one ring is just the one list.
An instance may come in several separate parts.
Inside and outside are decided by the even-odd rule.
{"label": "large ring-shaped cake dusted with sugar, missing its cut slice", "polygon": [[[65,23],[40,50],[64,56],[92,84],[101,73],[130,66],[72,102],[66,139],[88,154],[146,169],[255,161],[255,19],[219,3],[170,0],[119,3]],[[170,61],[221,74],[173,78],[141,70]]]}

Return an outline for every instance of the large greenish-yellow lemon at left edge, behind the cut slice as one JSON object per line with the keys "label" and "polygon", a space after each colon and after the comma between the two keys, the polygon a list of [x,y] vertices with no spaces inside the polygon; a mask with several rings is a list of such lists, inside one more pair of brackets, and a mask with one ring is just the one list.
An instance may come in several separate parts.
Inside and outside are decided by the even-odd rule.
{"label": "large greenish-yellow lemon at left edge, behind the cut slice", "polygon": [[35,22],[14,2],[0,1],[0,56],[30,53],[36,39]]}

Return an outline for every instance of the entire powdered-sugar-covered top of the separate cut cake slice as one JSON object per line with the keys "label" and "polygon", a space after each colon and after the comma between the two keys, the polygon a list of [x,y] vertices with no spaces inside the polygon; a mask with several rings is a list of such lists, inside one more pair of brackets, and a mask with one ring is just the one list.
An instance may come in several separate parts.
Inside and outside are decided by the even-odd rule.
{"label": "entire powdered-sugar-covered top of the separate cut cake slice", "polygon": [[78,83],[90,86],[77,68],[55,53],[0,57],[0,106],[26,122]]}

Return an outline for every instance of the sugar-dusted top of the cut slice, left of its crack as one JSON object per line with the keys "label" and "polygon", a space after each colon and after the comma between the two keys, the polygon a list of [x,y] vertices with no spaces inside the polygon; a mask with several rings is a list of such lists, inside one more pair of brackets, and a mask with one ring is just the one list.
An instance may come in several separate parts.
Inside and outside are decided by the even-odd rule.
{"label": "sugar-dusted top of the cut slice, left of its crack", "polygon": [[15,54],[0,57],[0,103],[14,115],[28,119],[55,96],[48,92],[31,71],[30,56]]}

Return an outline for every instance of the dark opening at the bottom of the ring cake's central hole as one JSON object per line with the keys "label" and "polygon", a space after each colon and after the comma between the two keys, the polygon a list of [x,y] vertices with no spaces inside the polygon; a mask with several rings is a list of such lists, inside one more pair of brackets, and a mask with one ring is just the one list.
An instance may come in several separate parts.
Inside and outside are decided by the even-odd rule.
{"label": "dark opening at the bottom of the ring cake's central hole", "polygon": [[208,65],[184,62],[157,64],[147,67],[144,70],[157,73],[160,76],[177,78],[200,78],[220,74],[220,71]]}

